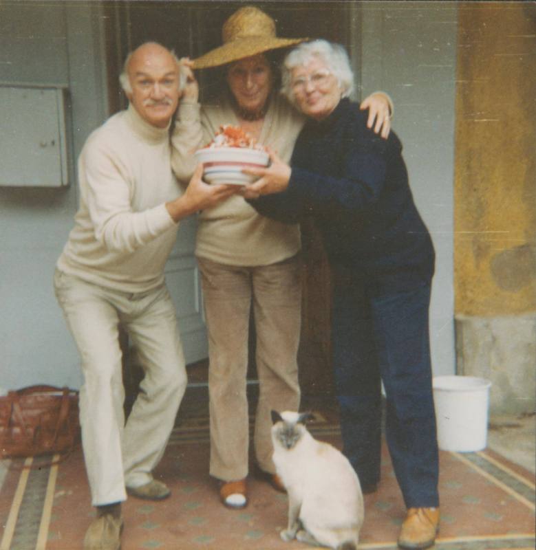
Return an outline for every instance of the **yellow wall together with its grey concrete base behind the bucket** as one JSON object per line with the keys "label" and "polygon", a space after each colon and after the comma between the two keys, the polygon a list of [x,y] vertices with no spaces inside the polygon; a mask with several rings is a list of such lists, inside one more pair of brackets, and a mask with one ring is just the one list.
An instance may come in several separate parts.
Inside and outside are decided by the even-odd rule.
{"label": "yellow wall together with its grey concrete base behind the bucket", "polygon": [[492,414],[535,410],[536,4],[459,8],[455,318]]}

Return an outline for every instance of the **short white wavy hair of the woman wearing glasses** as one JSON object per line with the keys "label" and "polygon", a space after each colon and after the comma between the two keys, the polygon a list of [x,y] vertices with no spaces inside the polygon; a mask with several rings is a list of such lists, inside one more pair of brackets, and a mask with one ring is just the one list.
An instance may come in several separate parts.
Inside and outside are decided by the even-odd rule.
{"label": "short white wavy hair of the woman wearing glasses", "polygon": [[296,104],[292,91],[292,69],[308,65],[314,59],[320,58],[337,79],[342,97],[347,98],[354,91],[354,73],[350,67],[350,59],[343,46],[327,40],[304,42],[294,48],[283,61],[281,67],[281,94]]}

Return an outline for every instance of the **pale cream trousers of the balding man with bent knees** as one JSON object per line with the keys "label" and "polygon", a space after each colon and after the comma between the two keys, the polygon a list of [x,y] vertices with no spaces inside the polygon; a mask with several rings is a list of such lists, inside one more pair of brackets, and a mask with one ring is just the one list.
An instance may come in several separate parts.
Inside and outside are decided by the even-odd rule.
{"label": "pale cream trousers of the balding man with bent knees", "polygon": [[[165,285],[131,294],[56,270],[54,289],[81,356],[82,446],[92,504],[120,502],[125,485],[151,481],[186,389],[175,307]],[[126,426],[119,324],[144,369]]]}

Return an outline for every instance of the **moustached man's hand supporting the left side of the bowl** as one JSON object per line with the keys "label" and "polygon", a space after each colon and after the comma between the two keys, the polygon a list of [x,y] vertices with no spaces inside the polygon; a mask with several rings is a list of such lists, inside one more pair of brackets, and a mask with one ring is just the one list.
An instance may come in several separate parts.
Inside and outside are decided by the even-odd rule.
{"label": "moustached man's hand supporting the left side of the bowl", "polygon": [[175,223],[199,210],[216,206],[240,190],[236,185],[208,185],[202,180],[202,175],[203,165],[198,164],[184,195],[166,203],[167,211]]}

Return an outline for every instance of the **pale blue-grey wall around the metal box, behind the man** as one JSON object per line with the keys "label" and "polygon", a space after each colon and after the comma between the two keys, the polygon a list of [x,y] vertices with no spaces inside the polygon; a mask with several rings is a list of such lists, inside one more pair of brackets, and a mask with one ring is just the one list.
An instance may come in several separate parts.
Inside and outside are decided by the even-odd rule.
{"label": "pale blue-grey wall around the metal box, behind the man", "polygon": [[72,137],[71,186],[0,187],[3,389],[38,383],[77,388],[81,383],[78,353],[56,304],[52,276],[78,204],[72,159],[107,117],[100,24],[95,3],[0,5],[1,82],[67,86]]}

